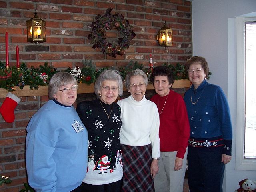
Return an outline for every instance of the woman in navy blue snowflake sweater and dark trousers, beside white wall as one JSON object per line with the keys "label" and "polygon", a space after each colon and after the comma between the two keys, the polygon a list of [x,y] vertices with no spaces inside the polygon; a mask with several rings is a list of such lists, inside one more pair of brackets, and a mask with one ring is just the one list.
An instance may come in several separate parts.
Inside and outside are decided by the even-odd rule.
{"label": "woman in navy blue snowflake sweater and dark trousers, beside white wall", "polygon": [[206,81],[208,63],[203,57],[186,62],[192,86],[186,91],[190,122],[188,184],[190,192],[222,192],[225,164],[231,160],[232,126],[223,90]]}

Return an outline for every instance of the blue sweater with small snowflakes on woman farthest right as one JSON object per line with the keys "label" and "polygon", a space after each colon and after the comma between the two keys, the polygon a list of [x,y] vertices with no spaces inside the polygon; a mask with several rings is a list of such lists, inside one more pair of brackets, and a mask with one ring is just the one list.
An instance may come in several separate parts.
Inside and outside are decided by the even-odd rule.
{"label": "blue sweater with small snowflakes on woman farthest right", "polygon": [[231,155],[232,125],[223,90],[204,80],[197,89],[192,85],[184,100],[190,122],[190,139],[210,141],[223,138],[223,154]]}

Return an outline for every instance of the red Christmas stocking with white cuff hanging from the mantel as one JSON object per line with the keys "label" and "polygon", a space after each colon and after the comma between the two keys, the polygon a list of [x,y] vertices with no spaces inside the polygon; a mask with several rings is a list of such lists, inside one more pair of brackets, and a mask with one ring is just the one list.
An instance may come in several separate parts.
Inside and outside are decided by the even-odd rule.
{"label": "red Christmas stocking with white cuff hanging from the mantel", "polygon": [[15,119],[14,109],[20,102],[20,98],[12,93],[8,93],[2,106],[0,107],[0,113],[7,123],[12,123]]}

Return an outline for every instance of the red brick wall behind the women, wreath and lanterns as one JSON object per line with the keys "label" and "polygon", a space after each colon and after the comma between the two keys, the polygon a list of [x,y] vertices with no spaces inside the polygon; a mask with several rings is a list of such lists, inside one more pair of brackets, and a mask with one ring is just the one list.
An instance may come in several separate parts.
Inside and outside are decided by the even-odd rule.
{"label": "red brick wall behind the women, wreath and lanterns", "polygon": [[[136,33],[123,56],[105,56],[87,39],[97,14],[113,8],[129,20]],[[46,21],[47,42],[26,42],[26,20],[38,16]],[[158,46],[156,34],[164,26],[173,29],[173,46]],[[9,33],[10,66],[16,64],[15,48],[20,48],[20,62],[39,66],[48,62],[58,70],[82,66],[92,59],[97,67],[125,66],[130,60],[148,66],[149,54],[154,65],[176,64],[192,55],[191,2],[184,0],[0,0],[0,60],[5,61],[5,33]],[[16,108],[16,119],[8,124],[0,116],[0,174],[13,182],[0,186],[0,192],[18,192],[26,181],[24,163],[26,125],[47,100],[47,96],[23,97]],[[0,102],[4,101],[1,98]]]}

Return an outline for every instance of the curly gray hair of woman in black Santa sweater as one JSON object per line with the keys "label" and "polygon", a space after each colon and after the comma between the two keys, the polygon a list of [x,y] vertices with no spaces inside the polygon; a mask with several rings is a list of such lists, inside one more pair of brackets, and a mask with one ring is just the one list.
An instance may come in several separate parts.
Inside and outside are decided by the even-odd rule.
{"label": "curly gray hair of woman in black Santa sweater", "polygon": [[123,79],[118,70],[116,69],[106,69],[104,70],[100,76],[98,76],[95,84],[94,84],[94,93],[96,94],[97,98],[100,98],[100,88],[102,85],[102,82],[106,80],[116,81],[118,84],[118,95],[123,95]]}

